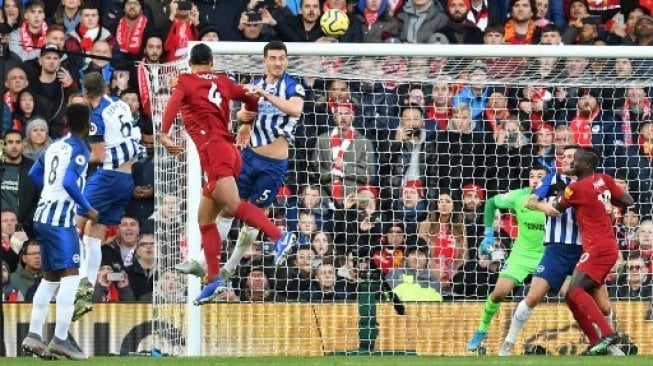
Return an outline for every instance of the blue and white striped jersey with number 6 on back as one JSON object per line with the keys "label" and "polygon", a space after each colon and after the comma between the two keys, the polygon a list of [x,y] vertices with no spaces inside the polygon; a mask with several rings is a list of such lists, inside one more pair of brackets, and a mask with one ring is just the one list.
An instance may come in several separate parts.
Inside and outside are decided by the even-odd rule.
{"label": "blue and white striped jersey with number 6 on back", "polygon": [[115,170],[137,158],[141,131],[135,125],[129,105],[116,97],[102,97],[91,113],[89,140],[104,141],[104,169]]}

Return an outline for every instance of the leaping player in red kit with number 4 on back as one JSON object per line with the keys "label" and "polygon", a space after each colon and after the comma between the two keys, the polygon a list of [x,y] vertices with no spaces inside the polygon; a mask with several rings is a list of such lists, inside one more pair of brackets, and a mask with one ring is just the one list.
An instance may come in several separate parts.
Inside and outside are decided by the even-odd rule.
{"label": "leaping player in red kit with number 4 on back", "polygon": [[[198,220],[207,263],[207,283],[195,299],[196,305],[211,301],[226,290],[220,278],[222,240],[215,219],[222,211],[263,231],[275,241],[276,248],[292,245],[294,236],[281,231],[258,207],[241,201],[236,178],[241,171],[240,152],[231,135],[229,102],[240,100],[245,110],[258,111],[258,97],[231,81],[225,74],[213,72],[213,54],[206,44],[194,46],[190,54],[190,74],[182,74],[163,113],[161,143],[171,154],[183,148],[168,136],[177,112],[186,131],[193,139],[200,156],[202,170],[207,176],[198,210]],[[251,123],[253,116],[242,123]]]}

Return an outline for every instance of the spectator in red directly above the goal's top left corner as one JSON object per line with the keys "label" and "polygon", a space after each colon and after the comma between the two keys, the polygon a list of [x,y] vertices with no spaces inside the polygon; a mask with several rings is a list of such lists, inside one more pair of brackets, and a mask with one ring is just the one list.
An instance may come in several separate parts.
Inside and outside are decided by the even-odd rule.
{"label": "spectator in red directly above the goal's top left corner", "polygon": [[[220,16],[218,19],[223,18]],[[174,61],[186,56],[189,50],[188,42],[199,39],[199,24],[199,10],[190,0],[170,3],[169,23],[163,26],[163,29],[168,29],[163,43],[164,62]]]}

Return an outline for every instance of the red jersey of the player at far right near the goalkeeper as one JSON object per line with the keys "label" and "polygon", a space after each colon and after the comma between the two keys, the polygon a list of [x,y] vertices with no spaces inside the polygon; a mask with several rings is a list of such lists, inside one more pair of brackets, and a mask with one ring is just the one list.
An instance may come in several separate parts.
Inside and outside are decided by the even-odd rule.
{"label": "red jersey of the player at far right near the goalkeeper", "polygon": [[592,174],[572,183],[562,195],[560,204],[576,210],[576,220],[583,249],[591,246],[617,248],[617,238],[612,227],[612,197],[621,198],[623,189],[606,174]]}

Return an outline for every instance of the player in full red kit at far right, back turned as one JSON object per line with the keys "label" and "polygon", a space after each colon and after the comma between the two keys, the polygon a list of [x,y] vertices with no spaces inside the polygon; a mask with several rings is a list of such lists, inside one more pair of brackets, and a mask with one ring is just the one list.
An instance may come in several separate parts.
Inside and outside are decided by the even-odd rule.
{"label": "player in full red kit at far right, back turned", "polygon": [[[595,173],[598,162],[599,157],[592,150],[577,149],[572,174],[578,181],[565,188],[560,200],[551,204],[558,215],[573,207],[578,218],[583,254],[569,283],[566,300],[589,339],[588,355],[607,353],[608,347],[619,339],[591,295],[599,291],[619,256],[611,219],[613,205],[633,204],[630,194],[617,186],[611,176]],[[595,325],[601,331],[600,338]]]}

